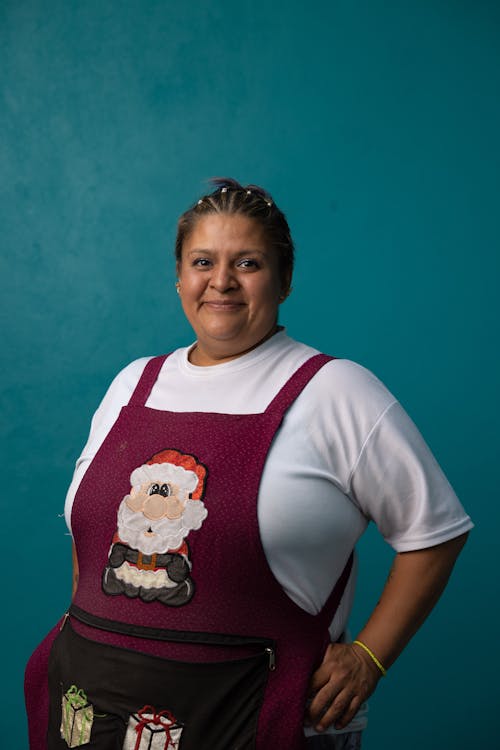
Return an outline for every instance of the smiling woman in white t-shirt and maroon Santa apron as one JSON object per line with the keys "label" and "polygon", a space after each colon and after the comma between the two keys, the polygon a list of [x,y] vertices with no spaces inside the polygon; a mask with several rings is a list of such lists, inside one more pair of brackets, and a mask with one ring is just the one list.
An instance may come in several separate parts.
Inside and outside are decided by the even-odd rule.
{"label": "smiling woman in white t-shirt and maroon Santa apron", "polygon": [[[196,342],[118,375],[77,463],[74,598],[28,665],[32,750],[359,747],[472,526],[384,386],[278,326],[293,243],[271,197],[214,183],[176,241]],[[369,520],[396,556],[345,642]]]}

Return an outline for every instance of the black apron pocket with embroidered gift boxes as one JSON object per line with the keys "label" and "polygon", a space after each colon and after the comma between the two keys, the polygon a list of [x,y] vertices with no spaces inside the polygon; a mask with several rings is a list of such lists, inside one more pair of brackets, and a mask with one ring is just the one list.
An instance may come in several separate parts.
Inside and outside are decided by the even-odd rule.
{"label": "black apron pocket with embroidered gift boxes", "polygon": [[251,750],[269,653],[181,662],[91,641],[66,622],[49,660],[48,750]]}

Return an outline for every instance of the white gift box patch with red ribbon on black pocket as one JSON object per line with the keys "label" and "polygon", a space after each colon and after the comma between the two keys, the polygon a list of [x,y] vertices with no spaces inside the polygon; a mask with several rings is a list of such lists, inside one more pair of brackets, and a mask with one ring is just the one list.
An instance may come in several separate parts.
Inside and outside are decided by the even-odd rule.
{"label": "white gift box patch with red ribbon on black pocket", "polygon": [[170,711],[144,706],[130,716],[122,750],[178,750],[183,728]]}

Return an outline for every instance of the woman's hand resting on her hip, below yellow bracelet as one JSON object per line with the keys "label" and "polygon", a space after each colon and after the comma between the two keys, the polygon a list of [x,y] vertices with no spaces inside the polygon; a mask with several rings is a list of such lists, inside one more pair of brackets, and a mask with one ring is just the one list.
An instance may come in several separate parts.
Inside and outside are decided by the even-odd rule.
{"label": "woman's hand resting on her hip, below yellow bracelet", "polygon": [[381,676],[370,657],[355,644],[330,644],[309,685],[307,723],[316,731],[330,724],[342,729],[373,693]]}

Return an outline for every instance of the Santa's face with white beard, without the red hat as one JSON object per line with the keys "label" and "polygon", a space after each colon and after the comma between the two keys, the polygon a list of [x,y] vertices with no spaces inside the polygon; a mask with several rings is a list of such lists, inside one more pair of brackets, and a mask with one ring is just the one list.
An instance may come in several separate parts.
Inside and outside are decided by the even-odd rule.
{"label": "Santa's face with white beard, without the red hat", "polygon": [[146,555],[178,549],[207,516],[205,505],[190,499],[188,490],[154,479],[132,487],[118,510],[120,539]]}

